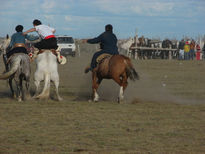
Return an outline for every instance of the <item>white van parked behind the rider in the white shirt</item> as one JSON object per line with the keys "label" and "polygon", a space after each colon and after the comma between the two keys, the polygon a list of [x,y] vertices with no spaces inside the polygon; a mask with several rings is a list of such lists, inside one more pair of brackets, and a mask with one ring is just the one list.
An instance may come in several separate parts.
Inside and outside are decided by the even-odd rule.
{"label": "white van parked behind the rider in the white shirt", "polygon": [[71,36],[56,36],[57,44],[60,50],[60,53],[67,57],[68,55],[76,55],[76,45],[75,41]]}

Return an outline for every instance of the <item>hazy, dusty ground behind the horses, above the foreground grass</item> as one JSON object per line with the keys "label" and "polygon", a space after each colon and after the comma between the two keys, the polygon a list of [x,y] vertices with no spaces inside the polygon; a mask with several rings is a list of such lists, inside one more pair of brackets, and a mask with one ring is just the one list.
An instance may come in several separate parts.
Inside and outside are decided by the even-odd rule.
{"label": "hazy, dusty ground behind the horses, above the foreground grass", "polygon": [[[91,61],[95,45],[80,44],[76,57],[68,57],[65,65],[59,65],[60,94],[64,100],[87,101],[91,98],[91,73],[84,74],[84,68]],[[205,79],[204,61],[179,60],[132,60],[140,80],[128,81],[125,102],[153,101],[180,104],[204,103]],[[4,65],[0,61],[0,71]],[[32,64],[31,93],[34,93]],[[52,88],[53,89],[53,88]],[[1,81],[0,97],[9,96],[9,87]],[[52,90],[53,91],[53,90]],[[99,89],[101,101],[116,101],[119,86],[113,80],[103,80]]]}

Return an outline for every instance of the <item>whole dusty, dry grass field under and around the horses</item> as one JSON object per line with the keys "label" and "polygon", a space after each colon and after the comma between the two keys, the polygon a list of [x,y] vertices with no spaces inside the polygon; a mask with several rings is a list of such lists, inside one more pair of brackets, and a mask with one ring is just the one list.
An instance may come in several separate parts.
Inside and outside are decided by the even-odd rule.
{"label": "whole dusty, dry grass field under and around the horses", "polygon": [[205,153],[204,61],[133,61],[141,79],[129,81],[124,104],[112,80],[90,103],[86,47],[59,66],[62,102],[52,87],[49,101],[18,103],[1,81],[0,153]]}

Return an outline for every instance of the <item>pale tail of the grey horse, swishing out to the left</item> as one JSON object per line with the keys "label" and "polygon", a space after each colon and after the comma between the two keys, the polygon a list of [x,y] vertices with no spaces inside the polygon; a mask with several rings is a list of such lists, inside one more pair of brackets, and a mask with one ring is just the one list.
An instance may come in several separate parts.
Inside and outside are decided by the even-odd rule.
{"label": "pale tail of the grey horse, swishing out to the left", "polygon": [[10,76],[12,76],[17,71],[17,69],[19,68],[20,63],[21,63],[21,58],[17,58],[11,66],[11,70],[0,75],[0,80],[6,80]]}

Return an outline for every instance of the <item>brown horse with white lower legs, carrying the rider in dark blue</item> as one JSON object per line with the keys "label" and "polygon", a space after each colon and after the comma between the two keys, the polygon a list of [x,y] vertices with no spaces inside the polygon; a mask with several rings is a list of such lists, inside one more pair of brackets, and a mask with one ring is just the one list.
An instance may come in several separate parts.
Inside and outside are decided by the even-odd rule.
{"label": "brown horse with white lower legs, carrying the rider in dark blue", "polygon": [[118,103],[124,96],[124,91],[128,85],[128,78],[135,81],[139,75],[135,71],[131,60],[124,55],[113,55],[104,58],[92,72],[93,101],[99,100],[97,89],[103,79],[113,79],[120,86]]}

